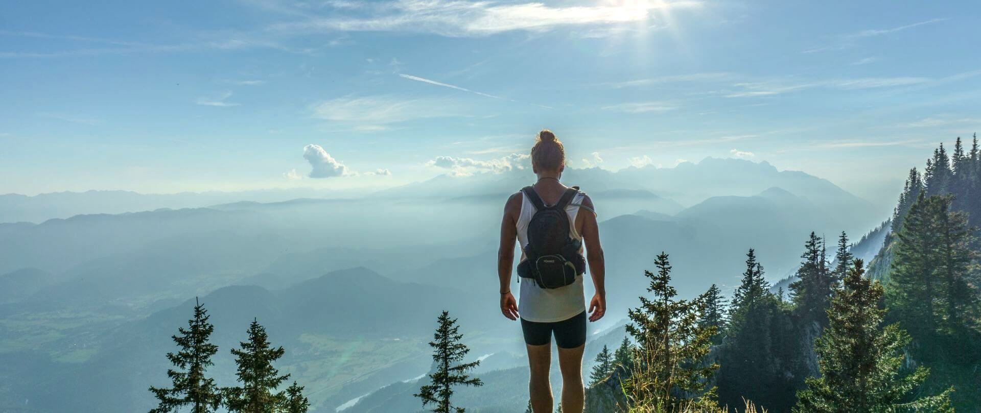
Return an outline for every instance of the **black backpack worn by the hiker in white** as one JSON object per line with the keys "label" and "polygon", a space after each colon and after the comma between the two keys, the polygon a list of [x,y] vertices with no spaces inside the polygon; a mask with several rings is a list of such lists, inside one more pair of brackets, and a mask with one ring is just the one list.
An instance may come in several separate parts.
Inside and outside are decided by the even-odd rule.
{"label": "black backpack worn by the hiker in white", "polygon": [[521,189],[535,206],[535,215],[528,223],[528,245],[525,261],[518,264],[518,276],[532,279],[542,288],[558,288],[576,282],[586,272],[586,259],[579,252],[582,241],[569,236],[569,215],[565,208],[579,192],[573,186],[562,193],[552,206],[546,206],[535,188]]}

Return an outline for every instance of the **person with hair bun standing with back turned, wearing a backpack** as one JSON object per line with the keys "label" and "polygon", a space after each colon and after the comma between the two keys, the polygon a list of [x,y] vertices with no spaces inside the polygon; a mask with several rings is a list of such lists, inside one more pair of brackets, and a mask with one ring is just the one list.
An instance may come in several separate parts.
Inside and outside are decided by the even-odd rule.
{"label": "person with hair bun standing with back turned, wearing a backpack", "polygon": [[[532,168],[538,181],[511,195],[504,206],[497,259],[500,308],[508,319],[521,319],[534,411],[550,413],[552,409],[548,369],[551,336],[555,336],[563,379],[562,409],[578,413],[582,412],[584,397],[582,362],[587,312],[583,273],[587,263],[596,291],[589,320],[599,320],[606,309],[598,227],[590,197],[559,181],[565,169],[565,151],[549,130],[539,133],[532,148]],[[520,305],[510,290],[515,240],[522,251],[518,264]]]}

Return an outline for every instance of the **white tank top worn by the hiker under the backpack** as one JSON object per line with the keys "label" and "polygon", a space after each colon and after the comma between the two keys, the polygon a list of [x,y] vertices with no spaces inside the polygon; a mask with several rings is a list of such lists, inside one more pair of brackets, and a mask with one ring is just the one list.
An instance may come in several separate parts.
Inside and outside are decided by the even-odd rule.
{"label": "white tank top worn by the hiker under the backpack", "polygon": [[[583,192],[579,192],[565,207],[569,216],[569,235],[573,239],[583,239],[576,231],[576,215],[583,203]],[[521,192],[521,215],[518,216],[518,244],[521,245],[521,261],[526,260],[525,246],[528,245],[528,223],[535,215],[535,205]],[[579,250],[583,252],[582,247]],[[531,280],[520,280],[521,295],[518,298],[518,313],[521,318],[537,323],[554,323],[568,320],[586,311],[586,297],[583,293],[583,276],[576,277],[576,282],[558,288],[546,289]]]}

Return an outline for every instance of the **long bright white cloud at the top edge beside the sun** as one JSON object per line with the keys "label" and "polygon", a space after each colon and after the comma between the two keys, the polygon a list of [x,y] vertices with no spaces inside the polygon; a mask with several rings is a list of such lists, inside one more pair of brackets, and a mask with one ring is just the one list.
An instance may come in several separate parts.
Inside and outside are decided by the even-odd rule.
{"label": "long bright white cloud at the top edge beside the sun", "polygon": [[[394,0],[366,5],[368,16],[332,16],[271,26],[274,31],[411,31],[483,36],[507,31],[547,31],[561,26],[611,26],[648,22],[660,10],[697,8],[698,1],[629,2],[622,5],[547,6],[467,0]],[[363,12],[364,10],[359,10]]]}

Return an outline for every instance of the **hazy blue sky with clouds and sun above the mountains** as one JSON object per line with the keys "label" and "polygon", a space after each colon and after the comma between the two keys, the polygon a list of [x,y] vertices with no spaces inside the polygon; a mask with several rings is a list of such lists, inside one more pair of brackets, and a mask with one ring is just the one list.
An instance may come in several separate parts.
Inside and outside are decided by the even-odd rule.
{"label": "hazy blue sky with clouds and sun above the mountains", "polygon": [[0,192],[386,186],[549,128],[573,167],[742,157],[886,199],[981,129],[979,33],[969,1],[5,2]]}

